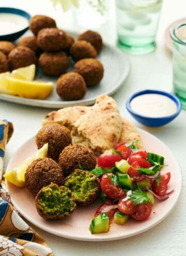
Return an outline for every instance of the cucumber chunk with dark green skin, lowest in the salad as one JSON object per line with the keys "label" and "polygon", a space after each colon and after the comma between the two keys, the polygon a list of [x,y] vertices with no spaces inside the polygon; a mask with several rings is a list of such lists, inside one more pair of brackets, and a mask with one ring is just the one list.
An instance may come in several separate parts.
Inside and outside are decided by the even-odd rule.
{"label": "cucumber chunk with dark green skin, lowest in the salad", "polygon": [[109,218],[107,213],[101,213],[90,224],[90,231],[92,234],[106,233],[109,229]]}

